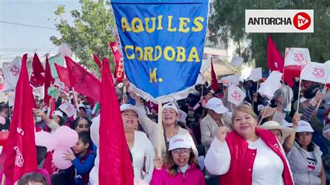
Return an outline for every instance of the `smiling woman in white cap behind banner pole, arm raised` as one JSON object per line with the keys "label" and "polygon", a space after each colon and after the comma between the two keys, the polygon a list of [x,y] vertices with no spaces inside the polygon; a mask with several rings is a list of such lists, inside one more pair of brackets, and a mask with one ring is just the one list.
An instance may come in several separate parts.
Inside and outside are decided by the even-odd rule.
{"label": "smiling woman in white cap behind banner pole, arm raised", "polygon": [[[164,140],[162,141],[162,156],[166,156],[168,151],[168,140],[177,134],[187,134],[189,136],[192,150],[196,156],[198,156],[196,145],[194,144],[194,140],[191,138],[189,131],[178,126],[178,115],[178,107],[175,106],[174,103],[168,103],[163,106],[162,123],[164,130],[162,130],[162,135],[164,136]],[[146,134],[150,138],[151,143],[156,151],[158,140],[158,124],[152,122],[152,120],[150,120],[146,114],[139,115],[139,122],[144,131],[146,131]]]}

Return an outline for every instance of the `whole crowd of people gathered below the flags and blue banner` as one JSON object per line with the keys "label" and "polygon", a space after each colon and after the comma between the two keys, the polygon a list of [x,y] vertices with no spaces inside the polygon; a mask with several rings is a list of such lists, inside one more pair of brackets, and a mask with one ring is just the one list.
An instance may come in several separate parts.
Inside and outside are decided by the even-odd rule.
{"label": "whole crowd of people gathered below the flags and blue banner", "polygon": [[[269,99],[257,92],[260,83],[239,82],[246,93],[239,106],[228,102],[228,86],[235,85],[221,81],[217,92],[207,83],[196,85],[186,99],[164,104],[159,112],[157,104],[136,95],[125,80],[127,93],[121,88],[116,93],[136,184],[329,184],[330,143],[324,133],[330,125],[330,92],[311,81],[302,81],[299,92],[297,81],[293,88],[283,83]],[[75,104],[72,92],[63,90],[50,102],[55,104],[52,113],[42,99],[35,99],[36,132],[53,133],[66,125],[79,140],[63,155],[72,161],[66,170],[58,170],[52,152],[37,146],[40,172],[24,175],[18,184],[97,184],[97,175],[90,175],[100,160],[92,129],[100,124],[97,105],[78,95],[77,113],[69,118],[60,106]],[[0,130],[9,129],[10,108],[1,104],[6,123]]]}

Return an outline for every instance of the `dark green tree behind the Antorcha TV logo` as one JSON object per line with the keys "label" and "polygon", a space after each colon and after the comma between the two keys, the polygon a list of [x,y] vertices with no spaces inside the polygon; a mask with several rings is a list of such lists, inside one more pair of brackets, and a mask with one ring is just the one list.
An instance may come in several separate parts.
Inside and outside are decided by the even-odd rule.
{"label": "dark green tree behind the Antorcha TV logo", "polygon": [[245,10],[312,9],[314,33],[272,33],[272,38],[283,56],[285,47],[306,47],[310,51],[312,61],[324,63],[330,60],[329,5],[327,0],[214,0],[209,17],[209,39],[216,44],[220,38],[225,45],[232,39],[239,46],[236,49],[237,54],[245,61],[256,61],[256,66],[265,70],[268,33],[245,33]]}

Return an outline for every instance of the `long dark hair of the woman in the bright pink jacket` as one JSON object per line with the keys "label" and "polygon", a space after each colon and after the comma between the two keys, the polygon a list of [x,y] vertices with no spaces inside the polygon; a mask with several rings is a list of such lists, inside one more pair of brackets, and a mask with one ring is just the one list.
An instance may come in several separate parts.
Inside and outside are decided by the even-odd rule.
{"label": "long dark hair of the woman in the bright pink jacket", "polygon": [[[189,165],[194,164],[199,168],[196,155],[195,155],[194,151],[192,151],[191,149],[190,149],[190,157],[189,157],[188,164]],[[175,177],[176,175],[178,175],[179,167],[178,167],[178,165],[176,165],[174,163],[171,151],[167,152],[164,166],[166,168],[168,175],[170,175],[171,177]]]}

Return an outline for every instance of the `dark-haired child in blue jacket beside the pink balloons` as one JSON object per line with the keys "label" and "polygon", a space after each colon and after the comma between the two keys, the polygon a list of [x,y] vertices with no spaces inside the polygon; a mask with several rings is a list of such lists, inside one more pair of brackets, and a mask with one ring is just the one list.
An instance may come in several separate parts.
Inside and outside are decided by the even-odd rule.
{"label": "dark-haired child in blue jacket beside the pink balloons", "polygon": [[87,185],[89,182],[89,172],[94,166],[95,154],[90,149],[91,136],[86,131],[78,134],[79,140],[73,146],[74,154],[68,152],[63,158],[72,161],[74,166],[74,182],[76,185]]}

